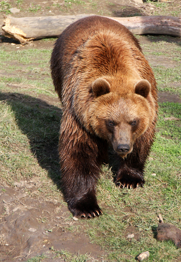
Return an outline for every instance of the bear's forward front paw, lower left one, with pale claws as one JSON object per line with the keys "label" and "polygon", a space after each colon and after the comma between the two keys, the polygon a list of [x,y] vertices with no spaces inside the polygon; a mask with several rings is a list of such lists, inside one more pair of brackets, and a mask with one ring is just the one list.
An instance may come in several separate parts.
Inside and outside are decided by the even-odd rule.
{"label": "bear's forward front paw, lower left one, with pale claws", "polygon": [[77,218],[94,218],[103,214],[97,203],[85,202],[86,201],[74,203],[71,207],[69,207],[69,210],[72,212],[73,216]]}

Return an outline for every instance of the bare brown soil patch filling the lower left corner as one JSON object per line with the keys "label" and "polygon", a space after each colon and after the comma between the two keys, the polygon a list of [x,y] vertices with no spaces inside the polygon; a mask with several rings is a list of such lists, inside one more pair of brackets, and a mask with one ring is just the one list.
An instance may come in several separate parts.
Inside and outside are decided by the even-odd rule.
{"label": "bare brown soil patch filling the lower left corner", "polygon": [[[35,183],[36,184],[36,183]],[[98,259],[103,254],[98,245],[91,244],[80,227],[78,235],[67,230],[79,221],[69,219],[70,212],[64,205],[45,201],[43,195],[38,199],[28,196],[23,186],[34,182],[22,181],[15,189],[0,187],[0,257],[2,262],[26,261],[42,253],[54,256],[50,251],[66,249],[71,253],[89,254]],[[37,190],[37,187],[34,187]],[[54,260],[56,261],[56,260]]]}

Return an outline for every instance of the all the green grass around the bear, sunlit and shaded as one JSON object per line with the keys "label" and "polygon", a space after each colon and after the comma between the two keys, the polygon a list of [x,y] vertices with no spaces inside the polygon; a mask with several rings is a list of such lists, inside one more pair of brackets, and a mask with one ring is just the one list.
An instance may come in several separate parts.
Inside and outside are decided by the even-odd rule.
{"label": "all the green grass around the bear, sunlit and shaded", "polygon": [[[162,66],[154,66],[153,70],[159,90],[180,96],[180,45],[168,43],[163,37],[159,38],[160,42],[154,42],[153,37],[148,39],[151,42],[143,44],[147,55],[155,59],[160,55],[172,60],[177,58],[175,67],[165,67],[163,61]],[[16,52],[7,47],[0,49],[0,176],[1,183],[9,186],[24,179],[37,179],[42,187],[36,193],[30,192],[30,197],[41,194],[62,205],[57,153],[62,112],[56,103],[49,102],[56,98],[49,71],[50,53],[50,49]],[[46,97],[47,102],[42,101],[40,95]],[[74,234],[79,234],[84,227],[90,241],[103,250],[104,261],[133,262],[143,251],[150,252],[148,262],[181,260],[180,249],[171,241],[155,239],[158,213],[165,223],[181,229],[181,125],[179,120],[165,120],[167,117],[180,119],[181,104],[164,102],[159,107],[158,132],[147,161],[144,188],[119,190],[114,185],[111,166],[103,166],[97,188],[103,216],[79,220],[66,227]],[[46,217],[42,216],[39,221],[45,223]],[[135,234],[132,240],[126,237],[129,233]],[[51,251],[67,262],[91,260],[88,255],[74,255],[53,247]],[[27,261],[43,259],[34,257]]]}

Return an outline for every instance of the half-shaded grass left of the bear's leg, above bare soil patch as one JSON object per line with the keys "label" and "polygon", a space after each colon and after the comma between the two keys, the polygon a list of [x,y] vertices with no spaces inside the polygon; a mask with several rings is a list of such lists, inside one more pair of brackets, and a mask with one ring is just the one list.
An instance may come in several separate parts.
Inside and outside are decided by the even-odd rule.
{"label": "half-shaded grass left of the bear's leg, above bare soil patch", "polygon": [[[39,105],[39,100],[29,96],[19,95],[20,101],[4,94],[2,97],[6,99],[6,103],[2,101],[0,104],[1,163],[6,167],[2,177],[12,183],[22,177],[41,175],[42,169],[46,169],[48,176],[57,174],[54,179],[59,179],[58,156],[55,154],[56,158],[52,158],[49,150],[56,150],[58,145],[61,112],[58,114],[54,107],[48,109],[46,103]],[[51,159],[52,164],[48,159]],[[50,165],[54,166],[53,170],[49,168]]]}

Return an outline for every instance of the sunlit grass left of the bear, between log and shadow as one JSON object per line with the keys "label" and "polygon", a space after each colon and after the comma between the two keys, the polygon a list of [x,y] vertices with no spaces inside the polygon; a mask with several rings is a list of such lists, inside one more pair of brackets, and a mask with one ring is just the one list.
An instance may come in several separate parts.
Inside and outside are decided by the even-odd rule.
{"label": "sunlit grass left of the bear, between log and shadow", "polygon": [[14,92],[15,84],[22,84],[18,92],[25,93],[28,87],[28,92],[34,92],[34,95],[49,94],[57,97],[50,76],[50,55],[51,50],[29,49],[9,52],[6,48],[1,48],[2,90]]}

